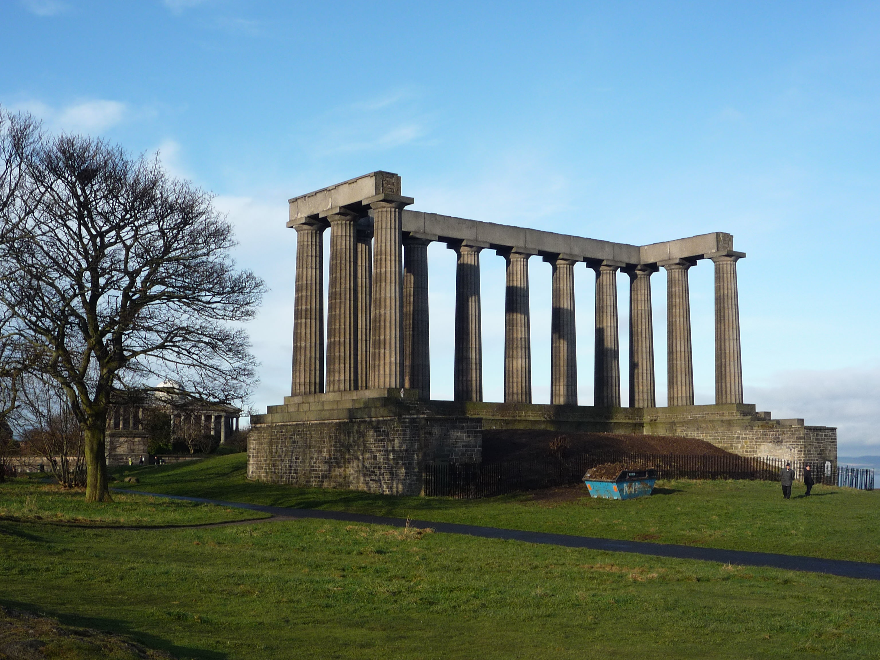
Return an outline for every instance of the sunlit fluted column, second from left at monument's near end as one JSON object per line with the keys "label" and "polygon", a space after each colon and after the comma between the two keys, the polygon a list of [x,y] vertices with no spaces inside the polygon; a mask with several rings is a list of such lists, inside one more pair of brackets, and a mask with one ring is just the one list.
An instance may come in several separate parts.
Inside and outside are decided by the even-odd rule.
{"label": "sunlit fluted column, second from left at monument's near end", "polygon": [[356,390],[358,215],[345,209],[326,214],[330,223],[327,293],[326,392]]}

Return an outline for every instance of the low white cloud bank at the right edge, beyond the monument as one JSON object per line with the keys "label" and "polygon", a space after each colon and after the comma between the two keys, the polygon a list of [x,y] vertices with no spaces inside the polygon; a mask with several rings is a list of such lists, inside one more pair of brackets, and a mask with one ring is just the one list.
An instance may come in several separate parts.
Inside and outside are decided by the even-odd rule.
{"label": "low white cloud bank at the right edge, beyond the monument", "polygon": [[841,454],[880,450],[880,366],[781,372],[770,385],[746,387],[745,400],[776,418],[836,426]]}

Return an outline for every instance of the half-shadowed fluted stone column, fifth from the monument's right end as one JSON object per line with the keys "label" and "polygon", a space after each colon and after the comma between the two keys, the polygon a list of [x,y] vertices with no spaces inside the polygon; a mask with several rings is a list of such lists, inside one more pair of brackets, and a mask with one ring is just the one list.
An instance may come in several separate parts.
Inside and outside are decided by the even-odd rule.
{"label": "half-shadowed fluted stone column, fifth from the monument's right end", "polygon": [[553,308],[550,315],[550,403],[577,405],[577,347],[575,333],[576,260],[547,259],[553,266]]}

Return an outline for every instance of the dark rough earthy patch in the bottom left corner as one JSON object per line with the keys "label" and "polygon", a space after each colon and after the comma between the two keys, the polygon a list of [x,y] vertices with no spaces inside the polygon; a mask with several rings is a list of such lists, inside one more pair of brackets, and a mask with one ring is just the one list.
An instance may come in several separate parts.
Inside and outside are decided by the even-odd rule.
{"label": "dark rough earthy patch in the bottom left corner", "polygon": [[43,657],[173,660],[165,651],[144,649],[121,634],[62,626],[55,619],[0,605],[0,660]]}

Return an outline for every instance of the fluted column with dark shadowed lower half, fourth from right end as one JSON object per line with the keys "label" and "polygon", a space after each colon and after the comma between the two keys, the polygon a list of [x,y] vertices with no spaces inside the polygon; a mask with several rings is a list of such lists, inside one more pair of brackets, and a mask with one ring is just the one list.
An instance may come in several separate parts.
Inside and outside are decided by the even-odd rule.
{"label": "fluted column with dark shadowed lower half, fourth from right end", "polygon": [[620,406],[617,269],[623,265],[601,261],[591,267],[596,271],[596,406]]}

